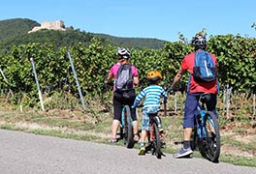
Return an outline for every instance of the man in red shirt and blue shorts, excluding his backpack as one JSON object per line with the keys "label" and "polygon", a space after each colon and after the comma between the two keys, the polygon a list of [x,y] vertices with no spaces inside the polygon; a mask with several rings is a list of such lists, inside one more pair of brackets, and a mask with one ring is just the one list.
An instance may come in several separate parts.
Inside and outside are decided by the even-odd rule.
{"label": "man in red shirt and blue shorts, excluding his backpack", "polygon": [[[210,93],[210,101],[207,102],[209,111],[212,111],[217,117],[216,113],[216,101],[217,101],[217,79],[211,82],[197,82],[193,77],[193,67],[195,60],[196,51],[204,51],[207,47],[207,39],[204,34],[196,34],[192,39],[192,44],[195,47],[195,52],[187,54],[180,65],[180,69],[176,73],[172,88],[176,88],[176,84],[180,80],[183,73],[188,71],[191,73],[188,87],[187,96],[184,109],[184,120],[183,120],[183,147],[180,148],[175,155],[175,158],[182,158],[193,154],[190,147],[190,137],[194,128],[194,113],[197,110],[197,102],[199,101],[200,95],[203,93]],[[213,54],[210,54],[215,67],[217,67],[217,59]]]}

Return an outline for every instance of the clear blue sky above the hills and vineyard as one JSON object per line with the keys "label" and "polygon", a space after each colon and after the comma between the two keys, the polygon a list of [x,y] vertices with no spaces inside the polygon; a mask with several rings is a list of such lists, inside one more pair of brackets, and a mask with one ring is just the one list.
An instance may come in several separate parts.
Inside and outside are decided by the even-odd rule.
{"label": "clear blue sky above the hills and vineyard", "polygon": [[203,28],[210,35],[255,38],[255,0],[5,0],[0,20],[61,19],[65,26],[116,37],[191,40]]}

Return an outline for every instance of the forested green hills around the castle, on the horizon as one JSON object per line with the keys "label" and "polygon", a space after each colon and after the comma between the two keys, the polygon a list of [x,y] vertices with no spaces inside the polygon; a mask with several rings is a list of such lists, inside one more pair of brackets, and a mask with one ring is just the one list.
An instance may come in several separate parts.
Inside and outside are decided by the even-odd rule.
{"label": "forested green hills around the castle, on the horizon", "polygon": [[146,48],[161,48],[166,41],[147,38],[120,38],[108,34],[97,34],[80,31],[72,26],[67,31],[52,31],[43,29],[28,34],[32,28],[40,26],[37,21],[28,18],[14,18],[0,20],[0,48],[10,48],[21,43],[55,43],[57,46],[71,45],[72,43],[88,44],[93,36],[100,38],[103,43],[112,43],[118,46],[134,46]]}

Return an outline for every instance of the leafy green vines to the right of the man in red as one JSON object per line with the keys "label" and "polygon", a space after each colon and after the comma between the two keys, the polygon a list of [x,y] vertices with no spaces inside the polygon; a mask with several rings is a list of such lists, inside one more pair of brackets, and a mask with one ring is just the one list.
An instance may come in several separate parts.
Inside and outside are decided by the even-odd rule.
{"label": "leafy green vines to the right of the man in red", "polygon": [[251,89],[256,85],[256,40],[240,36],[215,36],[208,42],[208,50],[218,58],[219,80],[234,89]]}

